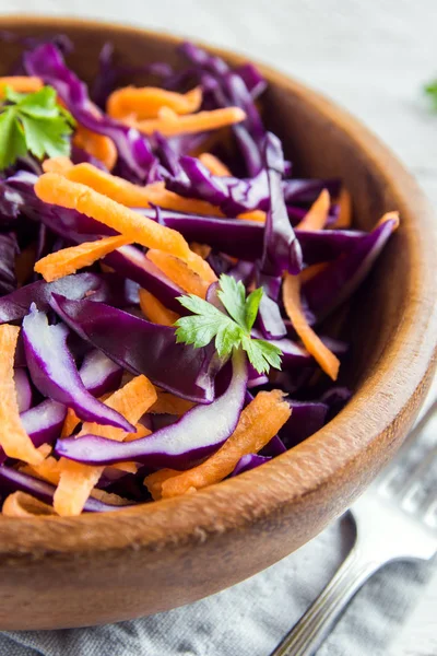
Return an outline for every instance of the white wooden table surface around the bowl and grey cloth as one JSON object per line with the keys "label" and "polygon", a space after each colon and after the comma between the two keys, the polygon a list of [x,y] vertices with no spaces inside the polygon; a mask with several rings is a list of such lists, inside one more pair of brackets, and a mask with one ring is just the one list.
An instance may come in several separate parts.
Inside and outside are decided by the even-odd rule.
{"label": "white wooden table surface around the bowl and grey cloth", "polygon": [[[264,60],[358,116],[437,204],[437,114],[421,95],[437,77],[437,0],[0,0],[0,10],[131,22]],[[437,574],[392,656],[437,655],[436,610]]]}

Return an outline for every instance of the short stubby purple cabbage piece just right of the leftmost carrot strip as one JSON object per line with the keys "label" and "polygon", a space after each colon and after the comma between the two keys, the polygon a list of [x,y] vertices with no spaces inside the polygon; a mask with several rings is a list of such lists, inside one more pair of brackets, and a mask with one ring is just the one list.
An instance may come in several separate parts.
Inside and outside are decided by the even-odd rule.
{"label": "short stubby purple cabbage piece just right of the leftmost carrot strip", "polygon": [[20,415],[21,423],[36,447],[52,444],[61,434],[67,407],[51,399],[42,401]]}

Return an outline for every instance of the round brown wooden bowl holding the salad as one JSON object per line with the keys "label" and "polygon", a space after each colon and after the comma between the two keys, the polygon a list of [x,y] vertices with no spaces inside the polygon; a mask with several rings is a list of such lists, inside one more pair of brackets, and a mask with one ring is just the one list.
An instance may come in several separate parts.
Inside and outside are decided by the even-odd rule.
{"label": "round brown wooden bowl holding the salad", "polygon": [[[177,61],[178,39],[113,24],[2,17],[19,35],[68,34],[92,79],[106,40],[125,61]],[[19,49],[2,47],[1,74]],[[232,65],[244,58],[222,52]],[[261,468],[194,495],[63,519],[0,518],[0,629],[127,620],[216,593],[310,540],[361,494],[402,443],[428,389],[437,341],[435,219],[414,179],[357,120],[286,75],[265,118],[298,174],[340,176],[356,222],[398,209],[402,226],[353,304],[355,395],[327,426]]]}

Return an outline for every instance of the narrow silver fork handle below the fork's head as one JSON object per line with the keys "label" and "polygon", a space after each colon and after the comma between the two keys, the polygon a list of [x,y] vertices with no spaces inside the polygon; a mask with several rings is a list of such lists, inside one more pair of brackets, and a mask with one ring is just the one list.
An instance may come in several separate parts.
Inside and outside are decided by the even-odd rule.
{"label": "narrow silver fork handle below the fork's head", "polygon": [[312,656],[347,602],[382,564],[383,562],[369,561],[359,547],[355,546],[334,577],[271,656]]}

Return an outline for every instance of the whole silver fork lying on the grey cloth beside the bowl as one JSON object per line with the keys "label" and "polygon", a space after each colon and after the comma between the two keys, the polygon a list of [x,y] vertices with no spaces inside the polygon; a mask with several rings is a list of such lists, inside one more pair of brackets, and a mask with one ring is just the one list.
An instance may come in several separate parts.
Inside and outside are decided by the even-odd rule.
{"label": "whole silver fork lying on the grey cloth beside the bowl", "polygon": [[[349,557],[271,656],[312,656],[347,602],[382,565],[430,560],[437,553],[437,441],[416,462],[414,453],[437,401],[408,436],[399,455],[350,508],[356,538]],[[416,448],[411,447],[415,445]],[[405,469],[410,470],[406,473]]]}

